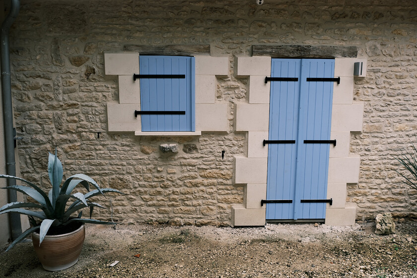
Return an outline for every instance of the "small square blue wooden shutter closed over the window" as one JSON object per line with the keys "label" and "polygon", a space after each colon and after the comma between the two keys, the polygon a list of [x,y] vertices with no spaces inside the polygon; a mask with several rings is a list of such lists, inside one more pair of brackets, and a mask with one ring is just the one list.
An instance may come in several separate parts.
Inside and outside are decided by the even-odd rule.
{"label": "small square blue wooden shutter closed over the window", "polygon": [[[140,78],[142,131],[195,131],[194,57],[139,56],[140,74],[184,74],[185,78]],[[175,112],[185,112],[184,115]],[[169,114],[169,112],[174,112]]]}

